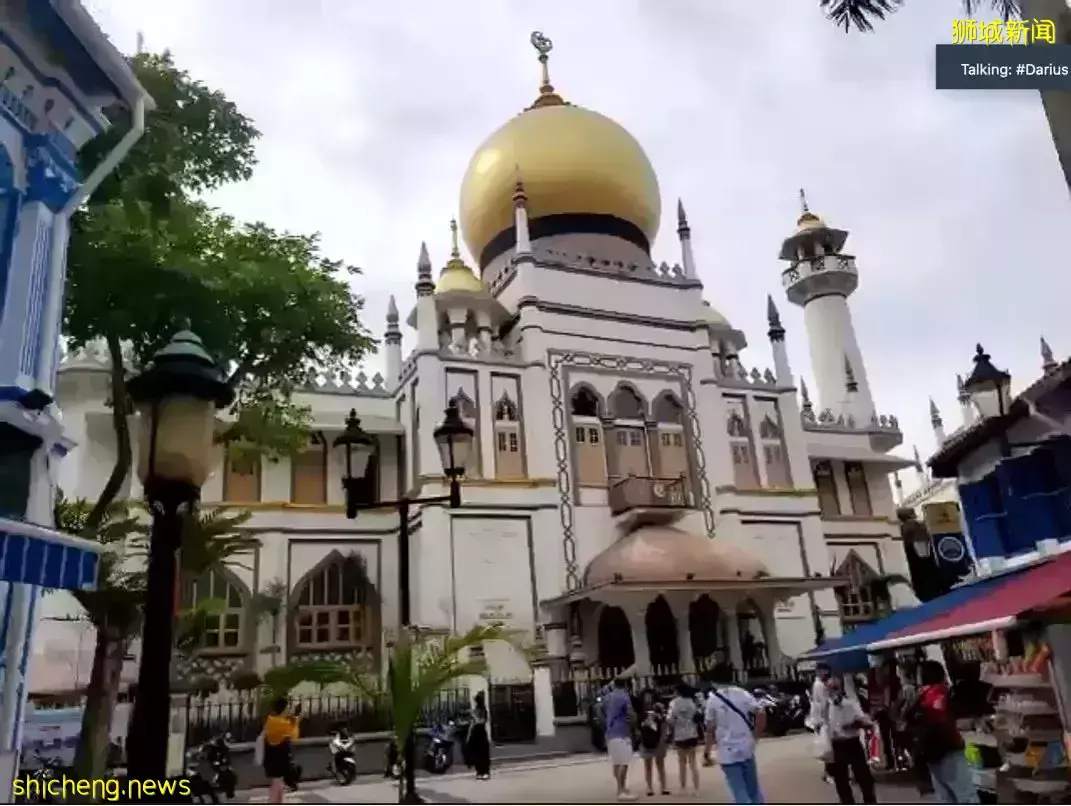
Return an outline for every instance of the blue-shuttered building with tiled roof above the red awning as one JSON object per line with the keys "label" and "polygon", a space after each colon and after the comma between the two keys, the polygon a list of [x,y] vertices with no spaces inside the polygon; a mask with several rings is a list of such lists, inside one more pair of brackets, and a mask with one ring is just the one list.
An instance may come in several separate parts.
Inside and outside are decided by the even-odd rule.
{"label": "blue-shuttered building with tiled roof above the red awning", "polygon": [[959,484],[982,574],[1071,548],[1071,361],[1054,361],[1047,345],[1042,353],[1042,376],[1019,395],[971,395],[980,416],[929,461],[935,477]]}

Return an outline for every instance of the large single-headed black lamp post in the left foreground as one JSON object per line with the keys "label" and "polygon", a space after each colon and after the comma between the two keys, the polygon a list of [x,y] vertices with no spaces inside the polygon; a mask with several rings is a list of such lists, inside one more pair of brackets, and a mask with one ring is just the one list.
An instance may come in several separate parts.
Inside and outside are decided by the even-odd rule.
{"label": "large single-headed black lamp post in the left foreground", "polygon": [[196,334],[177,333],[126,384],[139,413],[137,473],[152,515],[130,777],[167,777],[175,587],[183,526],[212,465],[215,411],[235,393]]}

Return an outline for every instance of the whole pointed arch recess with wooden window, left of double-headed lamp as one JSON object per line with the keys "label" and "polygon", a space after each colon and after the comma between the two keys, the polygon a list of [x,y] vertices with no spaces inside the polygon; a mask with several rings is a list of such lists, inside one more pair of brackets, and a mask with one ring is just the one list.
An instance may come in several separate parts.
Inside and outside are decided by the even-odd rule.
{"label": "whole pointed arch recess with wooden window, left of double-headed lamp", "polygon": [[[367,562],[333,549],[290,590],[287,602],[287,656],[352,656],[365,650],[378,663],[382,600],[368,577]],[[347,638],[348,636],[348,638]]]}

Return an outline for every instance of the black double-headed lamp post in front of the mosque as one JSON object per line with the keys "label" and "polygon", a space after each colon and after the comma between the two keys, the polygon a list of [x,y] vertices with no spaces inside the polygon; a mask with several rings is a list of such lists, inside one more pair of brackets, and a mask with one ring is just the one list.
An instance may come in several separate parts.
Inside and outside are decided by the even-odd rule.
{"label": "black double-headed lamp post in front of the mosque", "polygon": [[[342,485],[346,490],[346,517],[356,518],[361,510],[374,510],[393,506],[398,514],[398,615],[401,632],[406,630],[411,623],[411,602],[409,597],[409,510],[414,504],[449,504],[452,510],[462,505],[461,477],[465,473],[465,465],[472,453],[472,429],[465,424],[457,410],[457,405],[451,400],[447,407],[441,425],[434,431],[435,442],[442,459],[442,472],[450,480],[450,493],[447,496],[429,496],[426,498],[402,497],[396,501],[359,502],[357,500],[358,485],[368,469],[368,460],[376,450],[375,437],[361,428],[361,421],[356,410],[350,410],[346,417],[346,429],[335,439],[335,447],[343,448],[346,475]],[[405,760],[405,784],[398,797],[399,803],[423,803],[417,794],[417,737],[410,731],[405,747],[399,748]]]}

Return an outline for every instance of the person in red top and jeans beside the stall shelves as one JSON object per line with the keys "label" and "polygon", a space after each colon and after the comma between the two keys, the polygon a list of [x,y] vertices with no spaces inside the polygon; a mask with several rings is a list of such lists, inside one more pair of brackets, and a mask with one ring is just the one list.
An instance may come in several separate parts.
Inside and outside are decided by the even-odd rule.
{"label": "person in red top and jeans beside the stall shelves", "polygon": [[941,803],[979,803],[967,765],[963,735],[950,709],[948,676],[937,660],[923,660],[918,697],[907,708],[915,727],[916,754],[930,770],[934,794]]}

